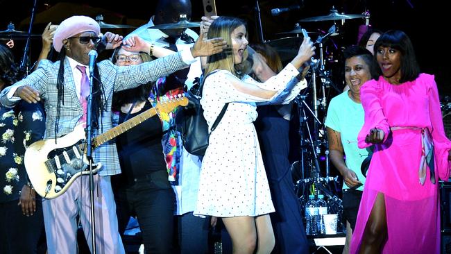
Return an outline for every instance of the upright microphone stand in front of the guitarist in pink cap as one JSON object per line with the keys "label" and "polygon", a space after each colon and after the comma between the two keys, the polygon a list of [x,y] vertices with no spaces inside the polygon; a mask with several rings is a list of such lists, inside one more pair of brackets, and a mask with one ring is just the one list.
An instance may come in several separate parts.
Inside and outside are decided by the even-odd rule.
{"label": "upright microphone stand in front of the guitarist in pink cap", "polygon": [[[94,63],[95,67],[95,63]],[[93,68],[94,69],[94,68]],[[94,71],[90,71],[90,94],[86,102],[86,157],[90,163],[90,205],[91,205],[91,232],[92,254],[96,254],[96,223],[94,217],[94,176],[92,173],[92,87],[94,84]]]}

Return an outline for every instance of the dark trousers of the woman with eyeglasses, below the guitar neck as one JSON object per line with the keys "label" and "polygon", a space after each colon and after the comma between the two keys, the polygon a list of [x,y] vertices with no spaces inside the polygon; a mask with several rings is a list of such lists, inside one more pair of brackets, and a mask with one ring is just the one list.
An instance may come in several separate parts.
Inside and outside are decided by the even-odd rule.
{"label": "dark trousers of the woman with eyeglasses, below the guitar neck", "polygon": [[121,235],[136,214],[146,253],[172,253],[175,195],[167,172],[151,173],[129,187],[113,185],[113,192]]}

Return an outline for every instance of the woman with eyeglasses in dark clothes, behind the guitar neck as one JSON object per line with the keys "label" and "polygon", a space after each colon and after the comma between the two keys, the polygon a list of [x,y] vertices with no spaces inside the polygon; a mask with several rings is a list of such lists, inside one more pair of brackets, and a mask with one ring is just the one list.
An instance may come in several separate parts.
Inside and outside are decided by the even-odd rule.
{"label": "woman with eyeglasses in dark clothes, behind the guitar neck", "polygon": [[[157,49],[154,54],[170,54],[168,49]],[[140,65],[151,61],[148,53],[118,49],[112,56],[117,66]],[[158,90],[161,79],[131,90],[115,92],[112,99],[113,124],[122,124],[149,110],[169,94]],[[182,92],[182,91],[181,91]],[[162,96],[160,96],[162,95]],[[171,167],[170,153],[163,153],[162,140],[173,123],[174,112],[161,112],[139,126],[116,138],[122,173],[112,177],[119,232],[126,230],[130,216],[137,217],[146,253],[171,253],[173,241],[173,210],[175,194],[169,184],[167,168]],[[164,143],[163,143],[164,144]],[[169,160],[168,160],[169,159]],[[167,164],[169,162],[169,165]]]}

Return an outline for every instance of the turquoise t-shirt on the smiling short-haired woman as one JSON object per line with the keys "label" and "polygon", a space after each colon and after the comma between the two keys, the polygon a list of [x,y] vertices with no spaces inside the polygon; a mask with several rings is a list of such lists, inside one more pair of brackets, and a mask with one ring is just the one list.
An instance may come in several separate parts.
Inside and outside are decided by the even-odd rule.
{"label": "turquoise t-shirt on the smiling short-haired woman", "polygon": [[[355,172],[362,184],[365,177],[361,173],[361,162],[368,156],[366,149],[359,149],[357,146],[357,135],[361,126],[364,125],[364,107],[352,101],[348,91],[335,96],[329,103],[325,125],[341,135],[341,144],[346,155],[346,166]],[[343,184],[343,189],[348,189],[348,185]],[[363,185],[357,188],[363,190]]]}

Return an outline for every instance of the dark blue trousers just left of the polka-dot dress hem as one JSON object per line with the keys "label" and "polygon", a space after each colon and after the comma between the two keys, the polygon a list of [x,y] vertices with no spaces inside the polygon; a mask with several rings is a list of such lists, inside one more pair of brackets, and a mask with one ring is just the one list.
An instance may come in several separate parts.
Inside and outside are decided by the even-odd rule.
{"label": "dark blue trousers just left of the polka-dot dress hem", "polygon": [[178,244],[181,254],[207,254],[210,217],[197,217],[192,212],[177,216]]}

